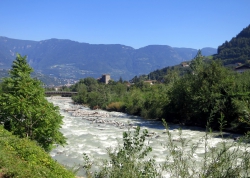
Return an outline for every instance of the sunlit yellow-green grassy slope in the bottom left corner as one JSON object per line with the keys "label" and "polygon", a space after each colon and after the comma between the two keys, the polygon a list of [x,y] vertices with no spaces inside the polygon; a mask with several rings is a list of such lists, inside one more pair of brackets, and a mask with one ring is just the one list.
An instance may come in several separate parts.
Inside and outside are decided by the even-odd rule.
{"label": "sunlit yellow-green grassy slope in the bottom left corner", "polygon": [[35,142],[18,138],[0,126],[0,175],[3,177],[75,177]]}

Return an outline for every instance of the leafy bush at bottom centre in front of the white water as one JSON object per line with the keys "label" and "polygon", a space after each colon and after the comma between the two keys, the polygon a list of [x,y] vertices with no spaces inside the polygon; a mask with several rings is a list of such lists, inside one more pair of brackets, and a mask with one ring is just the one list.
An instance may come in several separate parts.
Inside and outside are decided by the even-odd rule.
{"label": "leafy bush at bottom centre in front of the white water", "polygon": [[[140,133],[140,127],[137,127],[134,132],[124,132],[123,145],[107,150],[109,160],[103,161],[100,170],[95,172],[93,177],[153,178],[159,176],[155,160],[148,157],[152,148],[146,143],[147,135],[147,130]],[[87,175],[92,177],[90,173],[92,163],[86,154],[84,158]]]}

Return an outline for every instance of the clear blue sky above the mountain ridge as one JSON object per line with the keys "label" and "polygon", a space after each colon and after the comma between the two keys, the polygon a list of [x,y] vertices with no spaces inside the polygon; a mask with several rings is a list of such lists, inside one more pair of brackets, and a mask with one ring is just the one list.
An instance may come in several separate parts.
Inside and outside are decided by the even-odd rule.
{"label": "clear blue sky above the mountain ridge", "polygon": [[250,24],[249,0],[0,0],[0,36],[217,48]]}

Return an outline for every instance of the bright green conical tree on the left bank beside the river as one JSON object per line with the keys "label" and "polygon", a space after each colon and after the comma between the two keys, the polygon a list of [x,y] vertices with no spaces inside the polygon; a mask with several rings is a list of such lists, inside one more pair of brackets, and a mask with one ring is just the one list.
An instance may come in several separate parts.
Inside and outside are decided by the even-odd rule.
{"label": "bright green conical tree on the left bank beside the river", "polygon": [[59,131],[63,117],[59,108],[46,100],[41,82],[30,77],[32,71],[26,56],[17,54],[10,77],[3,81],[0,122],[13,134],[35,140],[50,151],[53,144],[66,143]]}

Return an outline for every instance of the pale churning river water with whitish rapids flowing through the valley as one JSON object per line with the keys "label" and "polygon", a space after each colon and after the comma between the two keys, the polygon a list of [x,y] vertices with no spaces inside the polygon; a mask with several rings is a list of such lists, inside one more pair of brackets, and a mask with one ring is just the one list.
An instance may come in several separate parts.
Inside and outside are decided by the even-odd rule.
{"label": "pale churning river water with whitish rapids flowing through the valley", "polygon": [[[67,138],[67,145],[57,146],[50,153],[53,159],[63,165],[70,167],[83,165],[83,153],[86,153],[91,160],[100,162],[107,158],[106,149],[116,147],[121,143],[122,133],[133,130],[135,126],[147,129],[149,132],[148,141],[153,148],[151,156],[155,156],[157,163],[165,161],[167,153],[164,144],[167,134],[162,123],[159,121],[148,121],[136,116],[130,116],[119,112],[107,112],[103,110],[90,110],[87,107],[73,105],[72,100],[66,97],[48,97],[49,102],[60,107],[63,118],[61,132]],[[179,125],[169,125],[173,141],[178,142]],[[182,127],[182,136],[189,140],[189,143],[201,142],[205,132],[197,127]],[[211,137],[208,139],[210,147],[216,146],[223,139]],[[200,159],[204,153],[204,144],[200,145],[193,155]],[[79,169],[79,176],[84,171]]]}

